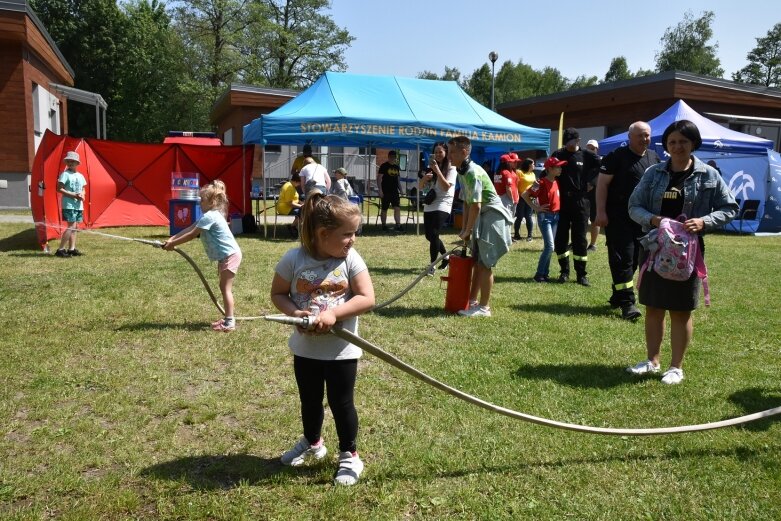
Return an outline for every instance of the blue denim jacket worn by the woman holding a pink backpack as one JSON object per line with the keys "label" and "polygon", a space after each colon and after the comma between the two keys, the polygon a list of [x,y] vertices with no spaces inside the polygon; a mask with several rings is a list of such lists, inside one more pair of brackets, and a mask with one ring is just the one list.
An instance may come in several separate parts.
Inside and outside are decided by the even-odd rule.
{"label": "blue denim jacket worn by the woman holding a pink backpack", "polygon": [[[695,156],[692,159],[694,171],[684,181],[682,213],[688,218],[701,218],[705,223],[702,233],[705,233],[730,222],[740,207],[719,172]],[[645,171],[629,197],[629,217],[639,223],[644,232],[653,228],[651,218],[659,215],[662,196],[669,184],[667,163],[659,163]]]}

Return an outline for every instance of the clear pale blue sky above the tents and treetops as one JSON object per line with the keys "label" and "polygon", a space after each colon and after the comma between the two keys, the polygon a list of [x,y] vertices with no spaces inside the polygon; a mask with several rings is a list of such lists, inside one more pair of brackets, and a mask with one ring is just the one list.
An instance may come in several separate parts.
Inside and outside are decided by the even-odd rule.
{"label": "clear pale blue sky above the tents and treetops", "polygon": [[724,77],[746,65],[746,54],[781,22],[778,0],[657,0],[529,2],[524,0],[332,0],[334,21],[356,37],[345,53],[348,71],[414,77],[456,66],[471,74],[496,51],[541,69],[556,67],[574,79],[602,79],[623,55],[630,70],[655,68],[668,27],[691,10],[715,13],[713,38]]}

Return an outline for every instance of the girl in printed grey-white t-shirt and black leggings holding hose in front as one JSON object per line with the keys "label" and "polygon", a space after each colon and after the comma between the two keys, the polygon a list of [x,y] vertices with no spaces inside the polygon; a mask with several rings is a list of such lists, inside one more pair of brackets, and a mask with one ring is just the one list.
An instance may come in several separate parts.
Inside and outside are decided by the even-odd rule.
{"label": "girl in printed grey-white t-shirt and black leggings holding hose in front", "polygon": [[374,307],[371,277],[353,249],[361,214],[357,205],[338,196],[312,192],[301,215],[301,247],[282,256],[271,283],[271,301],[277,309],[293,317],[315,316],[313,329],[298,328],[288,341],[304,434],[281,460],[297,467],[306,459],[325,457],[321,436],[325,388],[339,437],[335,483],[353,485],[363,471],[353,400],[362,351],[327,333],[337,322],[357,333],[358,315]]}

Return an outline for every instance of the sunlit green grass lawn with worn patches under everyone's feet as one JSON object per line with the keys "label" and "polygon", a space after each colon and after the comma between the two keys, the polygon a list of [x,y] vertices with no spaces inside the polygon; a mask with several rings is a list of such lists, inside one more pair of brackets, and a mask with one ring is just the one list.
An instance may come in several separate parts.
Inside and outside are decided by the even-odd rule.
{"label": "sunlit green grass lawn with worn patches under everyone's feet", "polygon": [[[428,264],[428,247],[375,230],[357,249],[382,302]],[[359,332],[467,393],[564,422],[663,427],[778,407],[781,238],[706,242],[713,306],[695,312],[678,386],[624,372],[644,357],[643,324],[608,308],[603,245],[589,256],[591,288],[534,283],[537,237],[495,270],[493,317],[444,313],[437,276]],[[273,269],[294,244],[239,243],[237,313],[275,312]],[[89,234],[78,246],[86,256],[43,255],[29,224],[0,223],[2,519],[781,519],[777,417],[664,437],[579,434],[478,409],[370,355],[356,395],[360,483],[332,485],[328,413],[327,461],[283,468],[301,431],[289,329],[213,333],[217,312],[178,255]],[[200,244],[183,248],[216,282]]]}

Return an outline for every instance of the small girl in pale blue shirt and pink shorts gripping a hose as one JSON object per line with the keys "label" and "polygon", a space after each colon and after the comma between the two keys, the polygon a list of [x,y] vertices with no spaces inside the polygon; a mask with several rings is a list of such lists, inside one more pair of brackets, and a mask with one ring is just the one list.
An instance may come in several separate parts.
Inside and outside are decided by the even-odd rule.
{"label": "small girl in pale blue shirt and pink shorts gripping a hose", "polygon": [[225,183],[214,181],[201,189],[201,209],[204,214],[198,222],[185,228],[163,244],[163,249],[171,251],[175,246],[184,244],[201,235],[206,256],[217,261],[217,273],[220,276],[220,292],[225,308],[225,317],[212,323],[214,331],[233,331],[236,320],[233,316],[233,279],[241,264],[241,248],[230,231],[225,215],[228,211],[228,196]]}

